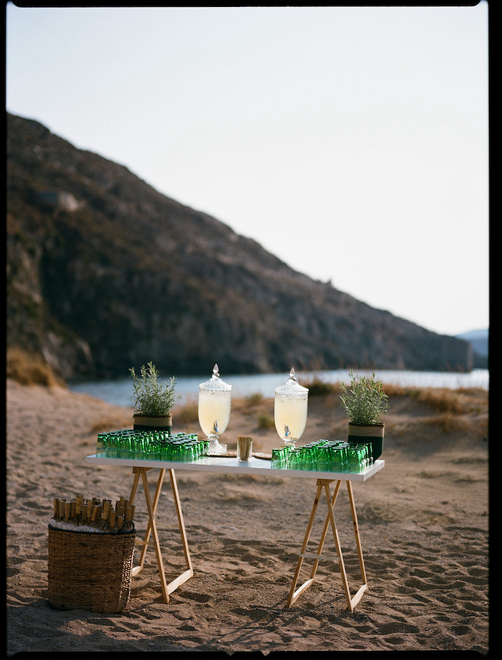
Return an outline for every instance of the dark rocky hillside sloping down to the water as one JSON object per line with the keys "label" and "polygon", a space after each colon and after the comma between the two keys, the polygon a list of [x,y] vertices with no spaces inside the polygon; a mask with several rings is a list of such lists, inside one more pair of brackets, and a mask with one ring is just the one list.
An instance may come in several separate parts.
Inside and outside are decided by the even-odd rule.
{"label": "dark rocky hillside sloping down to the water", "polygon": [[7,345],[63,378],[297,368],[469,371],[436,335],[292,270],[36,121],[7,117]]}

